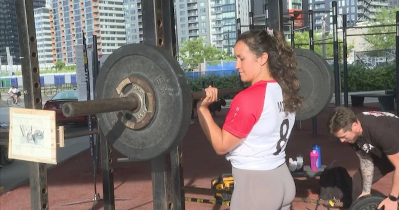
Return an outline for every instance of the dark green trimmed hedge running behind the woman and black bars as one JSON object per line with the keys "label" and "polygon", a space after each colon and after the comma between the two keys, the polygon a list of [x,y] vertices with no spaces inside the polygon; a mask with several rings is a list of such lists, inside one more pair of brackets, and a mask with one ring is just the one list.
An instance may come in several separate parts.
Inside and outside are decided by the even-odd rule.
{"label": "dark green trimmed hedge running behind the woman and black bars", "polygon": [[[334,69],[332,67],[334,73]],[[344,70],[340,67],[341,71],[341,88],[344,89]],[[377,91],[392,89],[395,85],[396,72],[395,64],[379,66],[373,69],[364,67],[361,65],[348,65],[348,92],[357,91]],[[213,86],[226,89],[239,87],[239,76],[233,74],[231,76],[207,76],[198,77],[198,79],[188,78],[192,91],[200,91],[202,89],[202,82],[204,81],[205,86],[213,81]],[[245,87],[249,84],[245,83]],[[227,97],[229,98],[229,97]]]}

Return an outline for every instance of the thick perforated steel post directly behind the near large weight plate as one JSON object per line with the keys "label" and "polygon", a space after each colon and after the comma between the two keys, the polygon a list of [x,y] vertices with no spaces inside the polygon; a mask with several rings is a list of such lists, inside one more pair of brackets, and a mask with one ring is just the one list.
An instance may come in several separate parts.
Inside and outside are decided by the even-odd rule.
{"label": "thick perforated steel post directly behind the near large weight plate", "polygon": [[[144,43],[164,48],[176,56],[176,40],[172,32],[174,30],[173,2],[171,0],[145,0],[141,4]],[[180,159],[176,158],[176,155],[179,153],[180,148],[176,147],[169,155],[160,155],[151,160],[154,210],[170,209],[170,205],[176,210],[182,209],[180,175],[176,174],[176,171],[172,174],[168,173],[170,168],[178,167]]]}

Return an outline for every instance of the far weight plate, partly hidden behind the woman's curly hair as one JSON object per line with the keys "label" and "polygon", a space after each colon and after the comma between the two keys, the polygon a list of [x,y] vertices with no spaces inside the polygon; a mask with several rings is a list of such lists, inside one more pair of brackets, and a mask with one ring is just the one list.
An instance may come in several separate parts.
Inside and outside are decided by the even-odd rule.
{"label": "far weight plate, partly hidden behind the woman's curly hair", "polygon": [[331,101],[334,93],[334,77],[328,63],[312,50],[294,48],[300,71],[296,73],[300,81],[299,94],[303,105],[296,113],[296,120],[310,119],[320,113]]}

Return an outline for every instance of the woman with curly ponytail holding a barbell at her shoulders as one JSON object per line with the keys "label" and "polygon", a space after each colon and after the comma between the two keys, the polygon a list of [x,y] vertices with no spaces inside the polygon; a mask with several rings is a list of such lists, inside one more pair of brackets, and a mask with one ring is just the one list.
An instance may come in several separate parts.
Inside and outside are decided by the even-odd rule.
{"label": "woman with curly ponytail holding a barbell at her shoulders", "polygon": [[222,129],[207,108],[217,89],[207,87],[197,104],[199,123],[232,164],[231,210],[288,210],[296,187],[285,148],[302,105],[295,54],[281,32],[249,30],[238,37],[234,55],[241,80],[251,86],[233,98]]}

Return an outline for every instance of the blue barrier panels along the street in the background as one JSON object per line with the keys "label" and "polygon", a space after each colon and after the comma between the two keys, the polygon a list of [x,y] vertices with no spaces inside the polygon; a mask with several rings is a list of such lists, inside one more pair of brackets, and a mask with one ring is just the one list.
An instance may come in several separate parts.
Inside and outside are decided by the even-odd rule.
{"label": "blue barrier panels along the street in the background", "polygon": [[[207,67],[207,71],[189,71],[186,72],[186,77],[191,79],[197,79],[198,77],[207,77],[207,76],[219,76],[219,77],[228,77],[234,74],[238,75],[237,69],[235,69],[234,65],[223,65],[221,66],[209,66]],[[223,70],[222,70],[223,69]],[[76,73],[47,73],[40,75],[40,85],[65,85],[77,84]],[[10,87],[14,85],[16,87],[23,87],[22,76],[1,76],[0,77],[2,87]]]}

